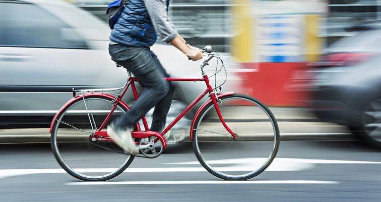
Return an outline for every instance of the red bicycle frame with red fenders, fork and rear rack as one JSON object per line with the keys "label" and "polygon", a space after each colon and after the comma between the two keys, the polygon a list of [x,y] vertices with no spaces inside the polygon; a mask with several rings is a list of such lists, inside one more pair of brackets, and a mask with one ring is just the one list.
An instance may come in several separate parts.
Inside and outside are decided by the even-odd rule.
{"label": "red bicycle frame with red fenders, fork and rear rack", "polygon": [[[205,60],[204,63],[203,63],[203,66],[205,66],[207,64],[207,62],[211,59],[212,57],[210,57],[209,59]],[[184,109],[184,111],[175,118],[175,120],[172,121],[172,123],[170,123],[166,128],[164,128],[164,130],[160,133],[156,132],[156,131],[149,131],[149,126],[148,126],[148,123],[147,123],[147,120],[145,118],[145,116],[143,116],[141,118],[142,122],[143,122],[143,126],[144,126],[144,129],[145,131],[142,131],[140,129],[140,126],[139,124],[137,123],[136,124],[136,131],[132,131],[132,137],[134,138],[147,138],[147,137],[150,137],[150,136],[155,136],[157,137],[157,139],[155,140],[155,142],[157,142],[158,140],[160,140],[163,144],[163,147],[164,148],[167,148],[167,143],[166,143],[166,140],[164,138],[164,134],[166,134],[177,122],[179,122],[179,120],[181,118],[183,118],[199,101],[201,101],[201,99],[203,97],[205,97],[207,94],[209,94],[209,97],[210,99],[208,101],[206,101],[197,111],[197,113],[195,114],[194,118],[193,118],[193,121],[192,121],[192,125],[191,125],[191,132],[190,132],[190,138],[192,140],[192,137],[193,137],[193,125],[194,125],[194,122],[197,118],[197,116],[200,114],[200,112],[202,111],[202,109],[204,107],[206,107],[206,105],[210,104],[211,102],[213,103],[215,109],[216,109],[216,112],[217,112],[217,115],[222,123],[222,125],[225,127],[225,129],[231,134],[232,138],[237,140],[238,136],[236,134],[233,133],[233,131],[228,127],[228,125],[226,124],[224,118],[222,117],[222,114],[221,114],[221,111],[220,111],[220,108],[219,108],[219,105],[218,105],[218,102],[219,102],[219,98],[223,97],[223,96],[228,96],[228,95],[233,95],[234,92],[227,92],[227,93],[223,93],[223,94],[219,94],[217,95],[216,91],[213,90],[212,86],[209,84],[209,78],[208,76],[205,74],[205,72],[203,71],[203,66],[201,66],[201,70],[202,70],[202,78],[164,78],[165,80],[167,81],[192,81],[192,82],[200,82],[200,81],[203,81],[205,82],[206,84],[206,89],[194,100],[192,101],[188,106],[187,108]],[[109,112],[109,114],[107,115],[106,119],[103,121],[102,125],[97,129],[97,131],[91,135],[89,138],[91,141],[96,141],[96,140],[103,140],[103,141],[110,141],[112,142],[113,140],[111,138],[108,137],[107,135],[107,131],[106,130],[103,130],[103,128],[106,126],[107,122],[109,121],[111,115],[113,114],[114,110],[116,109],[116,107],[118,106],[118,104],[120,103],[121,105],[123,105],[125,108],[127,108],[127,110],[129,109],[128,105],[122,101],[122,98],[123,96],[126,94],[129,86],[131,86],[131,89],[132,89],[132,92],[133,92],[133,95],[134,95],[134,98],[135,98],[135,101],[137,101],[139,99],[139,95],[137,93],[137,90],[136,90],[136,86],[135,86],[135,82],[138,81],[137,78],[135,77],[132,77],[131,74],[128,72],[128,75],[129,75],[129,78],[127,80],[127,83],[126,85],[123,87],[123,88],[117,88],[117,89],[89,89],[89,90],[75,90],[73,89],[73,97],[75,97],[74,99],[68,101],[61,109],[60,111],[56,114],[56,116],[53,118],[52,120],[52,123],[51,123],[51,127],[50,127],[50,132],[52,132],[52,129],[53,129],[53,125],[55,123],[55,121],[57,120],[57,117],[58,115],[68,106],[70,105],[70,103],[72,103],[73,101],[77,101],[78,99],[84,99],[85,97],[90,97],[90,96],[101,96],[101,97],[107,97],[108,99],[113,99],[112,101],[112,105],[113,105],[113,108],[111,109],[111,111]],[[117,90],[121,90],[120,92],[122,92],[122,94],[119,94],[116,96],[116,97],[113,97],[111,95],[108,95],[108,94],[104,94],[104,93],[94,93],[94,92],[108,92],[108,91],[117,91]],[[75,96],[75,92],[81,92],[81,96]],[[87,107],[87,106],[86,106]],[[90,119],[90,123],[92,124],[91,122],[91,118],[90,118],[90,114],[89,112],[88,113],[88,116],[89,116],[89,119]]]}

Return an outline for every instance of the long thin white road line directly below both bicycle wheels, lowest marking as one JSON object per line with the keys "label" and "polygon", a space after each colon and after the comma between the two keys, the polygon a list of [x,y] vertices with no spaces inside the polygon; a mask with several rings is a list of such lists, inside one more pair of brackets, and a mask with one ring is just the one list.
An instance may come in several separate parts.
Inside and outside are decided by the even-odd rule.
{"label": "long thin white road line directly below both bicycle wheels, lowest marking", "polygon": [[337,181],[318,180],[255,180],[255,181],[122,181],[69,182],[65,185],[192,185],[192,184],[340,184]]}

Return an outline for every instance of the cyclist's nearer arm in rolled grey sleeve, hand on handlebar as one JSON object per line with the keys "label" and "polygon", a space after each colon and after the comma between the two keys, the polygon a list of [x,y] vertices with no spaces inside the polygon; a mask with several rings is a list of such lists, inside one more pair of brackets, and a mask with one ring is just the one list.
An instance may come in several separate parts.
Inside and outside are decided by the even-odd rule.
{"label": "cyclist's nearer arm in rolled grey sleeve, hand on handlebar", "polygon": [[187,46],[186,41],[171,23],[168,17],[166,0],[144,0],[144,3],[155,31],[164,42],[172,44],[193,61],[202,58],[201,51],[190,45]]}

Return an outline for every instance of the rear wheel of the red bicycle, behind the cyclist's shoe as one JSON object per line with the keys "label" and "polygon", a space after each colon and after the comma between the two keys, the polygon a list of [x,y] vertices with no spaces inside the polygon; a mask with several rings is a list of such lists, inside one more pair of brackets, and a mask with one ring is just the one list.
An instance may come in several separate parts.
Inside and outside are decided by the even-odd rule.
{"label": "rear wheel of the red bicycle, behind the cyclist's shoe", "polygon": [[[112,141],[90,140],[110,113],[111,101],[102,96],[79,99],[68,105],[55,120],[51,135],[53,153],[64,170],[75,178],[109,180],[121,174],[134,158],[124,154]],[[118,104],[106,127],[126,111]]]}

